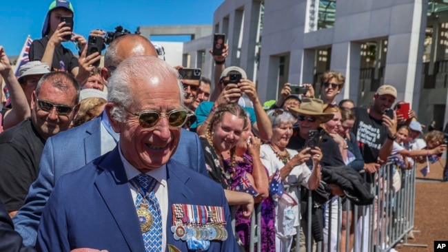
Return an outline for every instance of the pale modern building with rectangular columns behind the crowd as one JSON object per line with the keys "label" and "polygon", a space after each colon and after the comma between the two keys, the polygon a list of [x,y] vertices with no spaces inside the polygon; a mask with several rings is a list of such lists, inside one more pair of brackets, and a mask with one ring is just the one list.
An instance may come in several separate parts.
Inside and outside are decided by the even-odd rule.
{"label": "pale modern building with rectangular columns behind the crowd", "polygon": [[[225,33],[230,55],[257,83],[262,101],[286,82],[312,83],[326,70],[346,78],[338,99],[368,106],[385,83],[398,90],[420,123],[448,120],[446,0],[225,0],[213,33]],[[184,43],[183,65],[212,76],[212,35]]]}

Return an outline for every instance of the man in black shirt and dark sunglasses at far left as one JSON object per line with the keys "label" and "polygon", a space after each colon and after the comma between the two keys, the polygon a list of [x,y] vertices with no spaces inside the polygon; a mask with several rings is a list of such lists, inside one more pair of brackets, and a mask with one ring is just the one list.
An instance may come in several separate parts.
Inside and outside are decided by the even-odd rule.
{"label": "man in black shirt and dark sunglasses at far left", "polygon": [[45,74],[32,92],[31,118],[0,134],[0,199],[11,217],[37,179],[45,141],[68,129],[78,102],[79,84],[70,74]]}

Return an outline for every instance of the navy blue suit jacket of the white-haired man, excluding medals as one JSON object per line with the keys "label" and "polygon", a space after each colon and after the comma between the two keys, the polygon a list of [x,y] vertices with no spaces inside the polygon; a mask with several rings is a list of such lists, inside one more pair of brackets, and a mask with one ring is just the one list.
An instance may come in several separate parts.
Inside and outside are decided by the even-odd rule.
{"label": "navy blue suit jacket of the white-haired man, excluding medals", "polygon": [[[163,169],[163,168],[161,168]],[[167,162],[167,244],[187,251],[170,231],[172,204],[200,204],[225,209],[226,229],[232,234],[230,210],[218,183],[175,160]],[[118,147],[79,171],[59,179],[43,211],[37,235],[41,251],[70,251],[89,247],[108,251],[145,251],[139,220]],[[238,251],[234,235],[210,242],[209,251]]]}

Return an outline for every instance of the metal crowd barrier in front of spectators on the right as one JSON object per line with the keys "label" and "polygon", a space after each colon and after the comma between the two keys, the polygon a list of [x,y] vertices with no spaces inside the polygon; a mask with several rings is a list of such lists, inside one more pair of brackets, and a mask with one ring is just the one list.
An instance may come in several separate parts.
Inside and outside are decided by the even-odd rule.
{"label": "metal crowd barrier in front of spectators on the right", "polygon": [[[394,172],[400,174],[400,178],[394,183]],[[296,227],[291,251],[296,252],[385,252],[393,248],[398,242],[407,239],[407,233],[414,227],[414,204],[416,167],[409,170],[396,170],[393,164],[380,167],[376,174],[363,174],[365,179],[371,176],[371,193],[374,194],[374,204],[369,206],[356,206],[345,201],[346,234],[341,235],[343,206],[341,198],[336,196],[323,206],[324,215],[324,239],[314,242],[312,239],[312,193],[309,191],[307,216],[301,216],[301,224]],[[396,178],[397,175],[396,175]],[[400,183],[398,183],[400,182]],[[394,185],[400,184],[400,188]],[[285,191],[298,187],[299,200],[301,199],[301,185],[285,185]],[[332,206],[334,207],[333,211]],[[299,202],[299,213],[300,213]],[[350,213],[354,218],[349,221]],[[328,218],[325,218],[325,214]],[[234,227],[234,210],[232,209],[232,227]],[[331,221],[330,221],[331,220]],[[350,242],[350,228],[353,223],[352,242]],[[301,233],[302,225],[306,225]],[[261,204],[256,204],[251,216],[250,252],[261,251],[261,246],[256,246],[261,241]],[[333,230],[333,231],[332,231]],[[235,231],[235,229],[234,229]],[[307,232],[305,232],[307,231]],[[326,231],[326,232],[325,232]],[[326,233],[326,234],[325,234]],[[305,245],[301,246],[302,240]],[[345,249],[341,250],[341,242],[345,240]],[[243,250],[242,250],[243,251]]]}

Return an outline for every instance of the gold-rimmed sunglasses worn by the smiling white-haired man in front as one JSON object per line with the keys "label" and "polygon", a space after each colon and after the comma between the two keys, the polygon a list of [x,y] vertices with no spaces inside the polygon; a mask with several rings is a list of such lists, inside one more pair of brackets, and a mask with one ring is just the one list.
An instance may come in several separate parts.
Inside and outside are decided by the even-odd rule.
{"label": "gold-rimmed sunglasses worn by the smiling white-haired man in front", "polygon": [[170,112],[158,112],[155,110],[146,110],[139,113],[128,112],[138,117],[139,125],[145,129],[154,129],[163,117],[167,118],[170,127],[179,128],[187,122],[187,118],[191,114],[187,109],[173,109]]}

